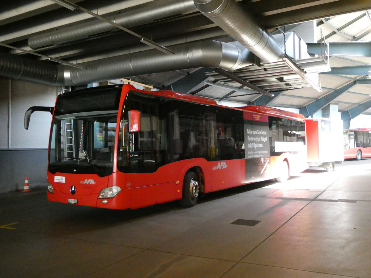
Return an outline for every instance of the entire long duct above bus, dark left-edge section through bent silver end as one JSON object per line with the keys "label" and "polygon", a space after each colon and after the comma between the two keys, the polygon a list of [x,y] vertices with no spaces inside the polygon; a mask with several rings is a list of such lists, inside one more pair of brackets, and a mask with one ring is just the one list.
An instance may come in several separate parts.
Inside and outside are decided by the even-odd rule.
{"label": "entire long duct above bus, dark left-edge section through bent silver end", "polygon": [[249,60],[252,55],[247,49],[242,51],[230,43],[203,41],[168,48],[175,52],[175,55],[151,49],[80,64],[86,67],[86,70],[70,66],[55,66],[46,62],[0,53],[0,76],[72,86],[197,67],[236,70],[253,64],[253,60]]}

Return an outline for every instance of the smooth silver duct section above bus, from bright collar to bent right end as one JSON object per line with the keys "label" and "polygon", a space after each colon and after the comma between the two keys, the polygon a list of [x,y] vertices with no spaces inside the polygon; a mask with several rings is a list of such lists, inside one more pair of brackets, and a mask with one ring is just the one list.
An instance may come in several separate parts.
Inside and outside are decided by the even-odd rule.
{"label": "smooth silver duct section above bus, from bright collar to bent right end", "polygon": [[169,46],[175,55],[156,49],[95,60],[81,64],[86,70],[71,69],[70,80],[74,85],[119,79],[173,70],[197,67],[220,67],[228,70],[252,64],[247,52],[230,43],[203,41]]}

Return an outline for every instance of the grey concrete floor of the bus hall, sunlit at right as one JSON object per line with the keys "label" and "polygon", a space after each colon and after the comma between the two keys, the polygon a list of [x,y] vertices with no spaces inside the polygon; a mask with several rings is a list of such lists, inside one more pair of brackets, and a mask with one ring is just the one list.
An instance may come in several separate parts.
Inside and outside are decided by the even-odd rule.
{"label": "grey concrete floor of the bus hall, sunlit at right", "polygon": [[188,209],[0,195],[0,277],[369,278],[370,178],[371,159],[346,161],[332,173],[310,168],[286,183],[209,193]]}

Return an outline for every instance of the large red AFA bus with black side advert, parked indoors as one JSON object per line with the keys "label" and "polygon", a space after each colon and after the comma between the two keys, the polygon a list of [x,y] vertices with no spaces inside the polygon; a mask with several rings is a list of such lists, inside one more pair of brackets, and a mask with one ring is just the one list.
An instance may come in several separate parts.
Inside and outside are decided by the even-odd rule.
{"label": "large red AFA bus with black side advert, parked indoors", "polygon": [[47,165],[49,201],[135,209],[302,172],[300,114],[265,106],[231,108],[214,100],[148,92],[131,85],[59,95]]}

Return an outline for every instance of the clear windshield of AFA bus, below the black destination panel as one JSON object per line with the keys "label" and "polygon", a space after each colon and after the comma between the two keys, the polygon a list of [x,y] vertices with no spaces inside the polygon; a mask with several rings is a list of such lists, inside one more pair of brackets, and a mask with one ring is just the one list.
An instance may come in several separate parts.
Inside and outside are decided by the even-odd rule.
{"label": "clear windshield of AFA bus, below the black destination panel", "polygon": [[117,112],[79,114],[54,118],[49,171],[95,173],[99,176],[111,174]]}

